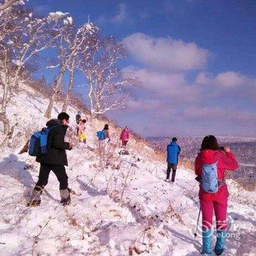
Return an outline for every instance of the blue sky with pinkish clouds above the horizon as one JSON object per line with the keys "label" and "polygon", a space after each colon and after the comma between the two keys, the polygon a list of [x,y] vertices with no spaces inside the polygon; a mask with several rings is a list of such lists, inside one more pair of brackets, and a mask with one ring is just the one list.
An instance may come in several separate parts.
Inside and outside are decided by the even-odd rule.
{"label": "blue sky with pinkish clouds above the horizon", "polygon": [[[141,135],[256,135],[256,1],[30,0],[126,43],[142,87],[109,113]],[[49,72],[47,76],[50,78]],[[76,83],[84,84],[78,76]],[[78,91],[84,90],[80,87]]]}

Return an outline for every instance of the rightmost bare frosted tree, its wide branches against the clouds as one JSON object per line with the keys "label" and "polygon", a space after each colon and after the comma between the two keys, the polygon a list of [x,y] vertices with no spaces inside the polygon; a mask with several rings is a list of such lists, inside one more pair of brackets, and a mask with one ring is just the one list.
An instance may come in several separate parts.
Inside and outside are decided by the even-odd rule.
{"label": "rightmost bare frosted tree, its wide branches against the clouds", "polygon": [[91,55],[85,56],[81,70],[89,81],[91,113],[101,115],[109,110],[124,107],[129,98],[128,86],[137,86],[138,79],[124,76],[118,69],[118,59],[127,56],[124,45],[115,42],[113,37],[101,40],[99,47]]}

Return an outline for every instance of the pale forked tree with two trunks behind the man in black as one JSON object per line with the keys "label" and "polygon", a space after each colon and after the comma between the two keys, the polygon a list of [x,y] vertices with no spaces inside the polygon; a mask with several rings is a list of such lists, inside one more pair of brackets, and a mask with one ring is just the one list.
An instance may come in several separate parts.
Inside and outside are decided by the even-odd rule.
{"label": "pale forked tree with two trunks behind the man in black", "polygon": [[[61,34],[60,40],[60,69],[59,75],[55,80],[53,86],[53,94],[50,97],[50,102],[48,109],[45,112],[45,117],[50,118],[50,113],[53,108],[53,104],[56,100],[57,94],[61,91],[62,79],[66,69],[70,65],[71,77],[69,81],[69,96],[73,87],[74,72],[75,72],[75,59],[80,52],[86,50],[86,45],[89,44],[92,35],[98,31],[97,26],[94,26],[93,23],[84,23],[76,32],[75,35],[72,35],[72,30],[69,29],[60,29],[59,33]],[[73,65],[74,64],[74,65]],[[69,100],[69,99],[67,99]],[[67,103],[68,104],[68,103]]]}

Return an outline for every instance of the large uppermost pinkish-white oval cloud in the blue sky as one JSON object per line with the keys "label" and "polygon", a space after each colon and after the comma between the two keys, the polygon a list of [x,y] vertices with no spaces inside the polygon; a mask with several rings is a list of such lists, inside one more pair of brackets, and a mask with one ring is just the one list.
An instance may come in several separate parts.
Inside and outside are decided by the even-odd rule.
{"label": "large uppermost pinkish-white oval cloud in the blue sky", "polygon": [[142,33],[124,38],[132,56],[147,67],[163,70],[192,70],[206,66],[208,50],[194,42],[166,38],[154,38]]}

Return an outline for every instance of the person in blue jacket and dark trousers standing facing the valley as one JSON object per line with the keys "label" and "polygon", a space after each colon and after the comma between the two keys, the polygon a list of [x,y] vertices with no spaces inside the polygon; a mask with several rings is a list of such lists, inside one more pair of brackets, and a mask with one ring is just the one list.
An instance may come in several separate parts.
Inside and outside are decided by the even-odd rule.
{"label": "person in blue jacket and dark trousers standing facing the valley", "polygon": [[177,138],[172,138],[171,143],[167,146],[167,176],[165,181],[169,181],[170,170],[172,173],[172,182],[175,181],[176,170],[178,166],[178,155],[181,152],[180,146],[178,146]]}

